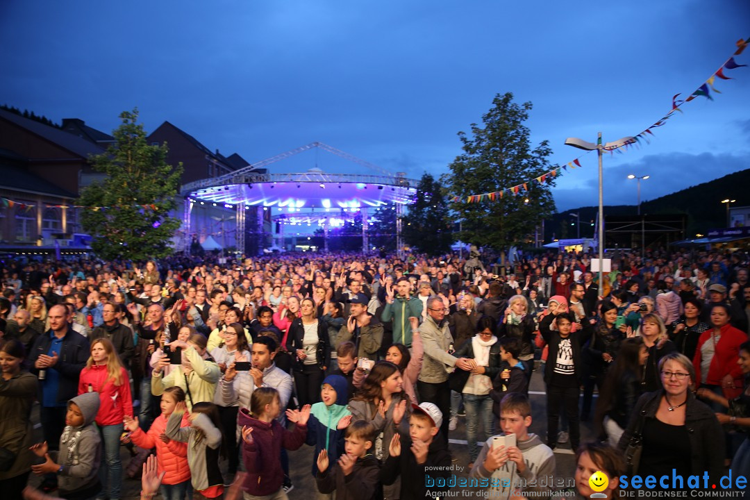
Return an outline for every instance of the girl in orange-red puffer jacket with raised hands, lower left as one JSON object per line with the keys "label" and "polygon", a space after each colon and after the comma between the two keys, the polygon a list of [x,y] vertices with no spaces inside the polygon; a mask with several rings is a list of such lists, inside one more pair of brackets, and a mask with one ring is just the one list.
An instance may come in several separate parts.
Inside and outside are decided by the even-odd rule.
{"label": "girl in orange-red puffer jacket with raised hands, lower left", "polygon": [[[177,386],[164,389],[161,396],[161,415],[154,420],[148,433],[138,427],[137,418],[125,417],[125,429],[130,431],[130,439],[140,448],[156,448],[159,459],[159,474],[164,472],[161,481],[161,496],[164,500],[184,500],[193,498],[190,485],[190,468],[187,465],[187,443],[166,437],[166,421],[175,411],[177,403],[185,400],[185,393]],[[181,427],[190,427],[188,413],[184,413]]]}

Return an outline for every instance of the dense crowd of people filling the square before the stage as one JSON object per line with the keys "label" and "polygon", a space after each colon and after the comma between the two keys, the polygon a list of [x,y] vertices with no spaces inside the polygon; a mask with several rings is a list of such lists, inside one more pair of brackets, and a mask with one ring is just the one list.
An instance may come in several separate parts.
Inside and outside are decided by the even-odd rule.
{"label": "dense crowd of people filling the square before the stage", "polygon": [[321,499],[440,496],[458,446],[464,486],[498,499],[555,496],[535,479],[567,443],[584,498],[596,471],[610,497],[628,475],[750,476],[748,256],[619,253],[601,283],[590,259],[6,260],[0,489],[118,500],[155,454],[164,499],[286,499],[305,444]]}

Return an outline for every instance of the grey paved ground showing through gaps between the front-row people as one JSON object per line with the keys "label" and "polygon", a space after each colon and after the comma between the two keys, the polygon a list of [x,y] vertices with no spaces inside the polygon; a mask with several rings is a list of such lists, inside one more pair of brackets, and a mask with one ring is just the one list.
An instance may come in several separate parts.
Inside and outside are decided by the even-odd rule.
{"label": "grey paved ground showing through gaps between the front-row people", "polygon": [[[531,432],[536,433],[542,437],[546,436],[547,419],[545,414],[545,403],[546,396],[544,395],[544,383],[541,380],[540,370],[536,370],[532,374],[531,385],[529,387],[529,397],[532,403],[532,426]],[[38,422],[37,412],[34,412],[35,422]],[[466,448],[466,427],[465,420],[463,417],[458,418],[458,428],[450,433],[450,449],[455,459],[454,465],[457,467],[456,475],[467,476],[469,470],[467,468],[469,464],[469,452]],[[36,433],[38,438],[41,440],[41,429],[37,424]],[[593,432],[590,424],[584,423],[581,426],[581,440],[586,441],[592,439]],[[575,469],[574,456],[571,452],[570,445],[560,445],[555,452],[556,458],[556,478],[568,478],[573,477]],[[307,500],[314,498],[314,493],[317,491],[315,487],[315,481],[311,475],[311,464],[313,462],[313,448],[305,445],[299,451],[294,451],[290,454],[292,463],[292,481],[294,484],[294,490],[289,493],[290,500]],[[128,454],[125,448],[122,448],[122,461],[123,467],[127,467],[127,463],[130,461],[130,454]],[[224,464],[226,465],[226,464]],[[32,476],[30,480],[31,484],[38,484],[39,480]],[[140,480],[125,479],[123,481],[123,499],[137,499],[140,492]],[[462,495],[463,498],[470,497],[468,492],[457,493]],[[156,497],[157,499],[160,496]],[[196,496],[196,499],[198,497]]]}

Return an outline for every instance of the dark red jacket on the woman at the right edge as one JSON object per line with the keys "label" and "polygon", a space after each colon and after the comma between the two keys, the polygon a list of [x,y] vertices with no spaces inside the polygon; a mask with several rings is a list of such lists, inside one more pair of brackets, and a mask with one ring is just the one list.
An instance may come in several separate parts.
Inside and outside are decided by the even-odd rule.
{"label": "dark red jacket on the woman at the right edge", "polygon": [[[698,339],[698,346],[695,349],[695,355],[693,358],[693,366],[695,367],[695,380],[697,385],[700,385],[700,381],[703,379],[700,376],[700,359],[701,351],[700,348],[703,343],[712,342],[711,334],[713,328],[706,330],[703,334],[700,334]],[[743,342],[747,342],[748,336],[742,333],[741,330],[734,328],[730,324],[726,324],[721,327],[721,338],[716,343],[716,352],[711,360],[711,365],[708,370],[708,377],[706,378],[706,384],[721,386],[721,379],[724,378],[727,373],[731,374],[734,379],[734,387],[739,388],[736,391],[742,391],[742,370],[737,364],[739,358],[739,346]],[[731,393],[732,391],[728,391]],[[724,390],[724,394],[727,391]],[[739,392],[732,397],[739,396]]]}

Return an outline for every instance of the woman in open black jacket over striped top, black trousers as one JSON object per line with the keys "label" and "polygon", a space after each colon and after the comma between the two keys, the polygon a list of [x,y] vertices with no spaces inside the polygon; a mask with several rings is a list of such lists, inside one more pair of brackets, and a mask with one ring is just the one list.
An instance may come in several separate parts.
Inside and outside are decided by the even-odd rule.
{"label": "woman in open black jacket over striped top, black trousers", "polygon": [[287,334],[287,351],[296,356],[294,382],[300,406],[320,401],[323,374],[331,362],[326,322],[317,319],[315,302],[305,298],[300,304],[302,318],[296,318]]}

